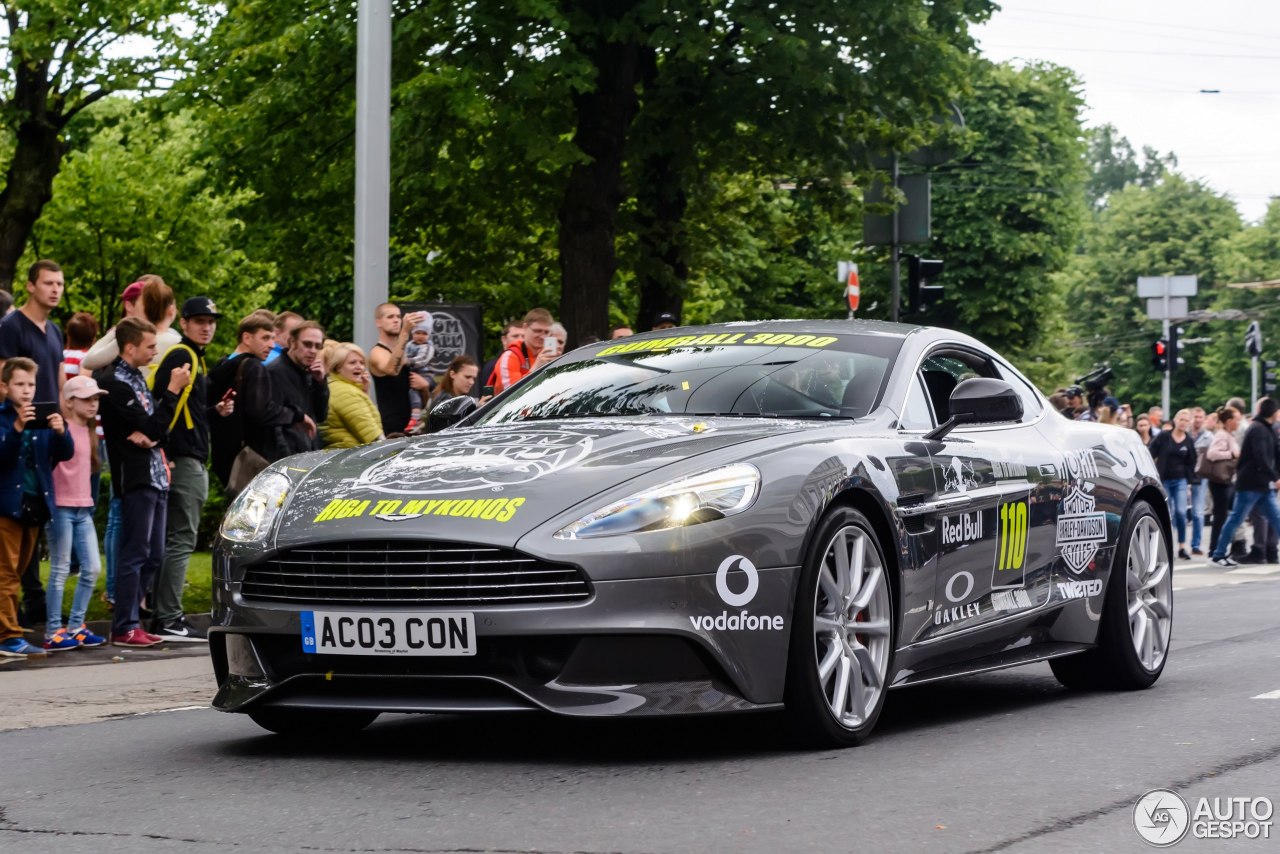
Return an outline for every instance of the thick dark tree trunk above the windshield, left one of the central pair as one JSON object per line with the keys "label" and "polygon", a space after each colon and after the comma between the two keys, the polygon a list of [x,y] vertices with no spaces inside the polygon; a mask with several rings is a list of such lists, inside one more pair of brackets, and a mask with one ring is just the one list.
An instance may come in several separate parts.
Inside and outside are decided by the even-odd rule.
{"label": "thick dark tree trunk above the windshield, left one of the central pair", "polygon": [[[600,0],[596,20],[618,19],[635,3]],[[596,32],[603,27],[595,28]],[[625,198],[622,160],[627,132],[639,109],[636,86],[645,47],[579,37],[596,69],[595,88],[573,97],[573,142],[588,156],[570,173],[559,209],[561,323],[576,344],[585,335],[608,334],[609,286],[617,270],[614,251],[618,207]]]}

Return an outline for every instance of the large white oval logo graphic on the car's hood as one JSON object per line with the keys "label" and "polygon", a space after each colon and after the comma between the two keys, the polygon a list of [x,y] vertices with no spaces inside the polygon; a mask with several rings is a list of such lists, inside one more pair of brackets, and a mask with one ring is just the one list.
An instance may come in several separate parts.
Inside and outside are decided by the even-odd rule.
{"label": "large white oval logo graphic on the car's hood", "polygon": [[481,430],[410,444],[365,469],[351,488],[392,494],[515,487],[566,469],[591,452],[575,430]]}

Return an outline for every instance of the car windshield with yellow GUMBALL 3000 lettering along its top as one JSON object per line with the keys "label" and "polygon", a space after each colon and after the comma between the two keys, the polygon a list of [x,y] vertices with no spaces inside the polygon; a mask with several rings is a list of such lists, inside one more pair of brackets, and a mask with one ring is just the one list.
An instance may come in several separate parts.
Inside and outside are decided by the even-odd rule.
{"label": "car windshield with yellow GUMBALL 3000 lettering along its top", "polygon": [[474,424],[621,415],[861,417],[902,341],[721,333],[607,343],[549,365]]}

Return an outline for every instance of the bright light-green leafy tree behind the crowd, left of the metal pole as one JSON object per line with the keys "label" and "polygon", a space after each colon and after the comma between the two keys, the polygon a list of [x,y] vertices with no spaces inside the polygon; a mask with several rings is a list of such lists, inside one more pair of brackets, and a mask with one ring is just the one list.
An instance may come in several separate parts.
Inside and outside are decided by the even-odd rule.
{"label": "bright light-green leafy tree behind the crowd, left of the metal pole", "polygon": [[269,305],[275,282],[274,266],[242,248],[238,211],[252,193],[212,179],[197,157],[205,128],[192,115],[155,118],[124,99],[91,113],[99,129],[67,156],[27,260],[56,250],[69,284],[63,311],[90,311],[104,328],[143,273],[163,275],[182,298],[210,296],[228,316],[219,346],[229,350],[234,320]]}

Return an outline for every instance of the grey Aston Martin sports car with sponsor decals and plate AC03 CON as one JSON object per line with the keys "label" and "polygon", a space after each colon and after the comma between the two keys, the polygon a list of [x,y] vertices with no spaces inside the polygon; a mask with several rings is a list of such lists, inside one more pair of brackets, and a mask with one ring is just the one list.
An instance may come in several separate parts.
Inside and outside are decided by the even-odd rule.
{"label": "grey Aston Martin sports car with sponsor decals and plate AC03 CON", "polygon": [[1146,688],[1170,516],[1135,434],[1069,421],[965,335],[672,329],[562,356],[433,435],[289,457],[214,558],[214,705],[778,709],[865,737],[884,694],[1048,661]]}

